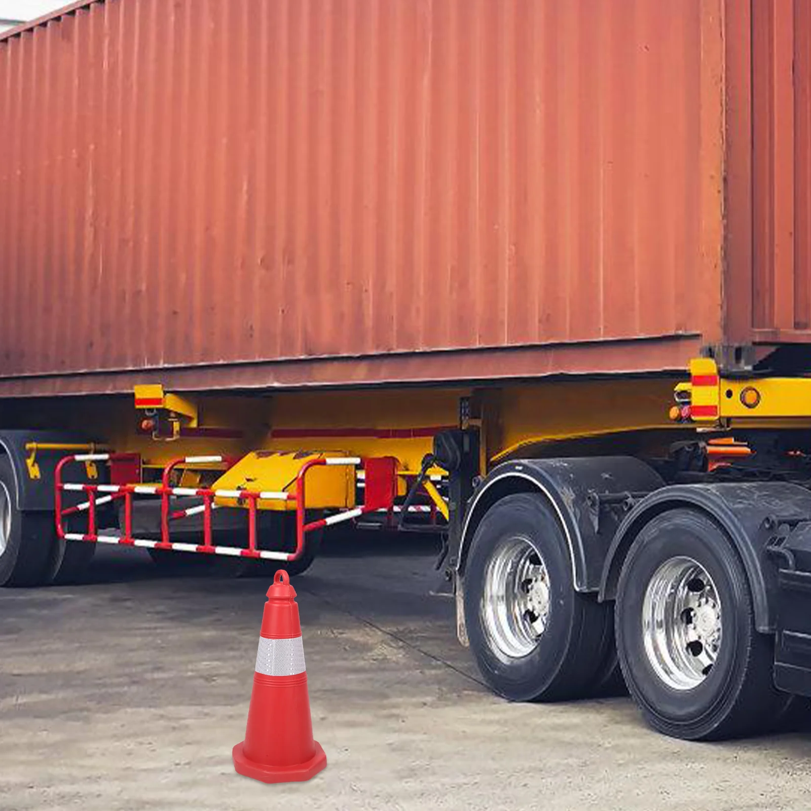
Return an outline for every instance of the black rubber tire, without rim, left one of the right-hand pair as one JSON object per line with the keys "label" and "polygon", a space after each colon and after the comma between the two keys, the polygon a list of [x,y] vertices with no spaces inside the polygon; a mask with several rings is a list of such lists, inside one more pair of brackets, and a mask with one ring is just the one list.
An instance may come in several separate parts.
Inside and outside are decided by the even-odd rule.
{"label": "black rubber tire, without rim, left one of the right-hand pair", "polygon": [[[491,648],[481,603],[487,563],[504,537],[521,534],[547,567],[552,599],[538,646],[504,661]],[[470,546],[464,611],[470,649],[487,684],[510,701],[562,701],[588,696],[609,653],[611,607],[574,589],[569,545],[556,515],[540,494],[505,496],[483,517]]]}

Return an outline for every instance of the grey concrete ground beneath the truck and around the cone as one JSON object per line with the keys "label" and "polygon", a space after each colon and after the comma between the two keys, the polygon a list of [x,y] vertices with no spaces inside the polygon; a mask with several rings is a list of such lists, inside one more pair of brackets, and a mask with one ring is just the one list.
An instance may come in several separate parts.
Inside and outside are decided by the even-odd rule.
{"label": "grey concrete ground beneath the truck and around the cone", "polygon": [[508,704],[428,595],[430,539],[336,539],[295,581],[327,769],[234,773],[267,580],[161,576],[100,551],[88,582],[0,590],[0,809],[808,809],[811,734],[686,744],[627,698]]}

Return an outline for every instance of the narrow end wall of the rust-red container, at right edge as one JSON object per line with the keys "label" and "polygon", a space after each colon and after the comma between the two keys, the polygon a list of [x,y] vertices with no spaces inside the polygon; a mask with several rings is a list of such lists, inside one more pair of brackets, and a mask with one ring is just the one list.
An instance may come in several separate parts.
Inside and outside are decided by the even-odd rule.
{"label": "narrow end wall of the rust-red container, at right edge", "polygon": [[811,341],[811,3],[727,0],[727,337]]}

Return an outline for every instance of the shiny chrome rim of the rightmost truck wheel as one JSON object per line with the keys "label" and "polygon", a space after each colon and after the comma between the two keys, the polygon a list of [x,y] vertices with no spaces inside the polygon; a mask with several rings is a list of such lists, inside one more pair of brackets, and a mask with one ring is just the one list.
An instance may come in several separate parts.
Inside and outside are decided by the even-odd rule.
{"label": "shiny chrome rim of the rightmost truck wheel", "polygon": [[722,639],[718,590],[696,560],[666,560],[650,578],[642,602],[645,652],[668,687],[690,690],[710,675]]}

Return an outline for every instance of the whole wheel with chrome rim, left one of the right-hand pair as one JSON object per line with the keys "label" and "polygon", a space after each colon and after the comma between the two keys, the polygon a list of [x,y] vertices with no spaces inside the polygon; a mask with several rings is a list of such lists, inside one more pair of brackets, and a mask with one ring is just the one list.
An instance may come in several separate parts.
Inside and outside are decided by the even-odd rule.
{"label": "whole wheel with chrome rim, left one of the right-hand pair", "polygon": [[511,701],[582,697],[611,640],[610,608],[574,590],[569,546],[547,500],[517,493],[483,517],[465,577],[470,648]]}

